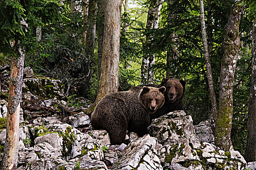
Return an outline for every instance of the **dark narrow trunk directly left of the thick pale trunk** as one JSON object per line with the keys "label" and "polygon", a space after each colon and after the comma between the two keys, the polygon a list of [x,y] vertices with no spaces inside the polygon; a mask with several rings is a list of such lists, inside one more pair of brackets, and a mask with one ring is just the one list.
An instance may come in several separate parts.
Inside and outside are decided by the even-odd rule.
{"label": "dark narrow trunk directly left of the thick pale trunk", "polygon": [[99,74],[98,79],[99,80],[101,77],[101,61],[102,61],[103,38],[104,38],[105,5],[106,5],[106,0],[98,0],[97,32],[98,32],[98,74]]}

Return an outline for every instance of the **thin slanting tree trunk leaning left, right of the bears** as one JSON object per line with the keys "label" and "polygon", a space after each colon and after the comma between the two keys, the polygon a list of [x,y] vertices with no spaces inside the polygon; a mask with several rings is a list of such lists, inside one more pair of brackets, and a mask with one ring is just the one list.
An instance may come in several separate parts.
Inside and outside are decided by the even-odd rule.
{"label": "thin slanting tree trunk leaning left, right of the bears", "polygon": [[207,39],[206,39],[203,0],[199,0],[199,7],[200,7],[202,39],[203,39],[203,46],[204,46],[204,53],[205,53],[206,72],[207,72],[207,79],[208,79],[208,85],[209,85],[209,91],[210,91],[210,100],[212,102],[212,111],[211,111],[211,115],[209,117],[210,117],[210,119],[213,119],[214,122],[216,122],[216,120],[217,120],[217,105],[216,105],[216,97],[215,97],[214,85],[213,85],[213,73],[212,73],[212,67],[211,67]]}

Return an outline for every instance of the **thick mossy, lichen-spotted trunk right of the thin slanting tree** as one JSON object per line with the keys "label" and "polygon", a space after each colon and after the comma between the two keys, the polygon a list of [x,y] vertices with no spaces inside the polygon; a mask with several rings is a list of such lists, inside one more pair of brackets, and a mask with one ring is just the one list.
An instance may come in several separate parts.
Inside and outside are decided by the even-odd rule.
{"label": "thick mossy, lichen-spotted trunk right of the thin slanting tree", "polygon": [[228,151],[232,146],[230,139],[233,119],[233,82],[238,50],[240,48],[239,22],[243,7],[234,0],[228,23],[225,26],[225,38],[222,43],[219,85],[219,111],[216,121],[215,145]]}

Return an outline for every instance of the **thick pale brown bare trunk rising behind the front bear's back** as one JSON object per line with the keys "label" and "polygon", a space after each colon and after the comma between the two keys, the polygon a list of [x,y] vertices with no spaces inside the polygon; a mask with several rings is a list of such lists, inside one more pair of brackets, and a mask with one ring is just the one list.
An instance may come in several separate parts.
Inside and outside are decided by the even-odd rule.
{"label": "thick pale brown bare trunk rising behind the front bear's back", "polygon": [[96,103],[118,90],[122,0],[107,0],[103,38],[101,77]]}

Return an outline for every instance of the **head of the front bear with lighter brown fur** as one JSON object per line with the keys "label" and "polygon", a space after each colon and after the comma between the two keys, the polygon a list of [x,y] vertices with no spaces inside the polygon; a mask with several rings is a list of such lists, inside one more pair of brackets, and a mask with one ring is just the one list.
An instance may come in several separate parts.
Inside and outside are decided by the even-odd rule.
{"label": "head of the front bear with lighter brown fur", "polygon": [[164,105],[165,102],[165,87],[148,87],[143,86],[139,94],[139,101],[143,105],[143,107],[149,112],[149,114],[153,114]]}

